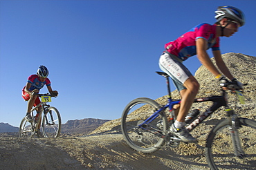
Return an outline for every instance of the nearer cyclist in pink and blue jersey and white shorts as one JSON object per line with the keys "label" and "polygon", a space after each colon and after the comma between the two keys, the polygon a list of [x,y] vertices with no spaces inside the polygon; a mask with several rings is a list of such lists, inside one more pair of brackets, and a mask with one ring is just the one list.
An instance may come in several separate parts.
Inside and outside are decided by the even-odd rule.
{"label": "nearer cyclist in pink and blue jersey and white shorts", "polygon": [[[192,28],[192,30],[185,32],[175,41],[165,44],[165,52],[159,59],[161,70],[172,77],[176,88],[181,94],[181,104],[176,108],[179,113],[176,121],[170,127],[170,131],[178,138],[181,138],[183,142],[196,142],[196,139],[185,129],[185,116],[188,114],[194,97],[199,91],[199,83],[188,68],[183,65],[183,61],[193,55],[197,55],[201,64],[208,68],[215,78],[228,81],[226,79],[228,77],[233,84],[243,88],[241,82],[238,82],[231,75],[221,58],[219,37],[230,37],[238,31],[239,27],[244,26],[244,14],[241,10],[232,6],[219,6],[215,13],[217,21],[214,25],[201,23]],[[219,70],[212,64],[206,51],[209,48],[212,48],[217,67],[226,77],[221,75]]]}

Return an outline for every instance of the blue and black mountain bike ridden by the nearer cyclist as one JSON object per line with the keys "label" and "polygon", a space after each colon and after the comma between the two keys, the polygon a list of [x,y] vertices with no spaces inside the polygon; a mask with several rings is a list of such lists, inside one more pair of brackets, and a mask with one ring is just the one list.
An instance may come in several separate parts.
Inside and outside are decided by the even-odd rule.
{"label": "blue and black mountain bike ridden by the nearer cyclist", "polygon": [[[121,129],[125,141],[132,149],[142,153],[153,153],[161,149],[164,144],[178,147],[182,142],[172,135],[170,125],[175,121],[173,106],[180,104],[181,100],[172,100],[170,93],[169,75],[156,72],[166,78],[168,102],[161,106],[156,101],[140,97],[132,100],[125,107],[121,118]],[[224,106],[227,117],[214,126],[205,145],[205,156],[211,169],[255,169],[256,122],[239,117],[228,106],[228,92],[234,92],[234,84],[220,84],[222,95],[201,97],[194,102],[213,102],[205,112],[199,114],[187,124],[186,129],[192,131],[209,115]],[[246,84],[244,84],[246,85]],[[232,90],[232,91],[231,91]],[[235,91],[241,102],[244,102],[241,91]]]}

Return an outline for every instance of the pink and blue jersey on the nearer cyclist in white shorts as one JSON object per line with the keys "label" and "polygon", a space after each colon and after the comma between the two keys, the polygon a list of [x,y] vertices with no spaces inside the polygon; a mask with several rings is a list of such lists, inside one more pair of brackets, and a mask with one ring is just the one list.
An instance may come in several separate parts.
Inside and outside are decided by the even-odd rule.
{"label": "pink and blue jersey on the nearer cyclist in white shorts", "polygon": [[196,39],[203,38],[208,42],[208,48],[219,50],[219,37],[216,37],[216,25],[201,23],[188,32],[185,32],[175,41],[165,44],[165,50],[185,61],[196,55]]}

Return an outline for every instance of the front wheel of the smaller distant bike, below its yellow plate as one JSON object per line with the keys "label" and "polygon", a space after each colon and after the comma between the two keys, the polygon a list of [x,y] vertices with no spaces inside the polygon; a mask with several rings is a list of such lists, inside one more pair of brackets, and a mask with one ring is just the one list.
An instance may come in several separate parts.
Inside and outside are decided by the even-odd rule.
{"label": "front wheel of the smaller distant bike, below its yellow plate", "polygon": [[43,116],[42,130],[45,138],[57,138],[60,135],[62,120],[55,107],[48,107]]}

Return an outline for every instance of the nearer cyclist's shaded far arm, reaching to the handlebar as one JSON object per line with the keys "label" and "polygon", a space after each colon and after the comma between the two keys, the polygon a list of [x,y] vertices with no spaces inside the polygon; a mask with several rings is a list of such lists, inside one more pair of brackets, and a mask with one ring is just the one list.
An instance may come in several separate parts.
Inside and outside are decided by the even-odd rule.
{"label": "nearer cyclist's shaded far arm, reaching to the handlebar", "polygon": [[226,75],[226,77],[228,77],[229,79],[234,79],[234,77],[231,75],[230,71],[228,70],[226,64],[223,62],[220,50],[213,50],[212,54],[214,55],[214,59],[216,61],[216,64],[219,70],[221,70],[221,72],[224,75]]}

